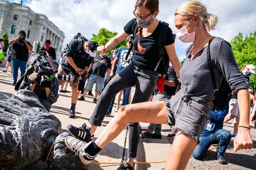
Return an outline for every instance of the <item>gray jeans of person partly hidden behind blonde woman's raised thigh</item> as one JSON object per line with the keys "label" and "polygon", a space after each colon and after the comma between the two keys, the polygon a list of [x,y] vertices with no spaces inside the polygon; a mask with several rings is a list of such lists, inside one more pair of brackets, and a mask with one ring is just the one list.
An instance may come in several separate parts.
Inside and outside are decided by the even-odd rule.
{"label": "gray jeans of person partly hidden behind blonde woman's raised thigh", "polygon": [[[172,96],[161,95],[161,93],[159,92],[157,95],[154,95],[154,98],[152,101],[161,101],[162,99],[170,100],[171,98]],[[153,132],[155,132],[155,134],[161,134],[161,130],[162,130],[161,124],[150,123],[146,131],[150,134],[153,134]]]}

